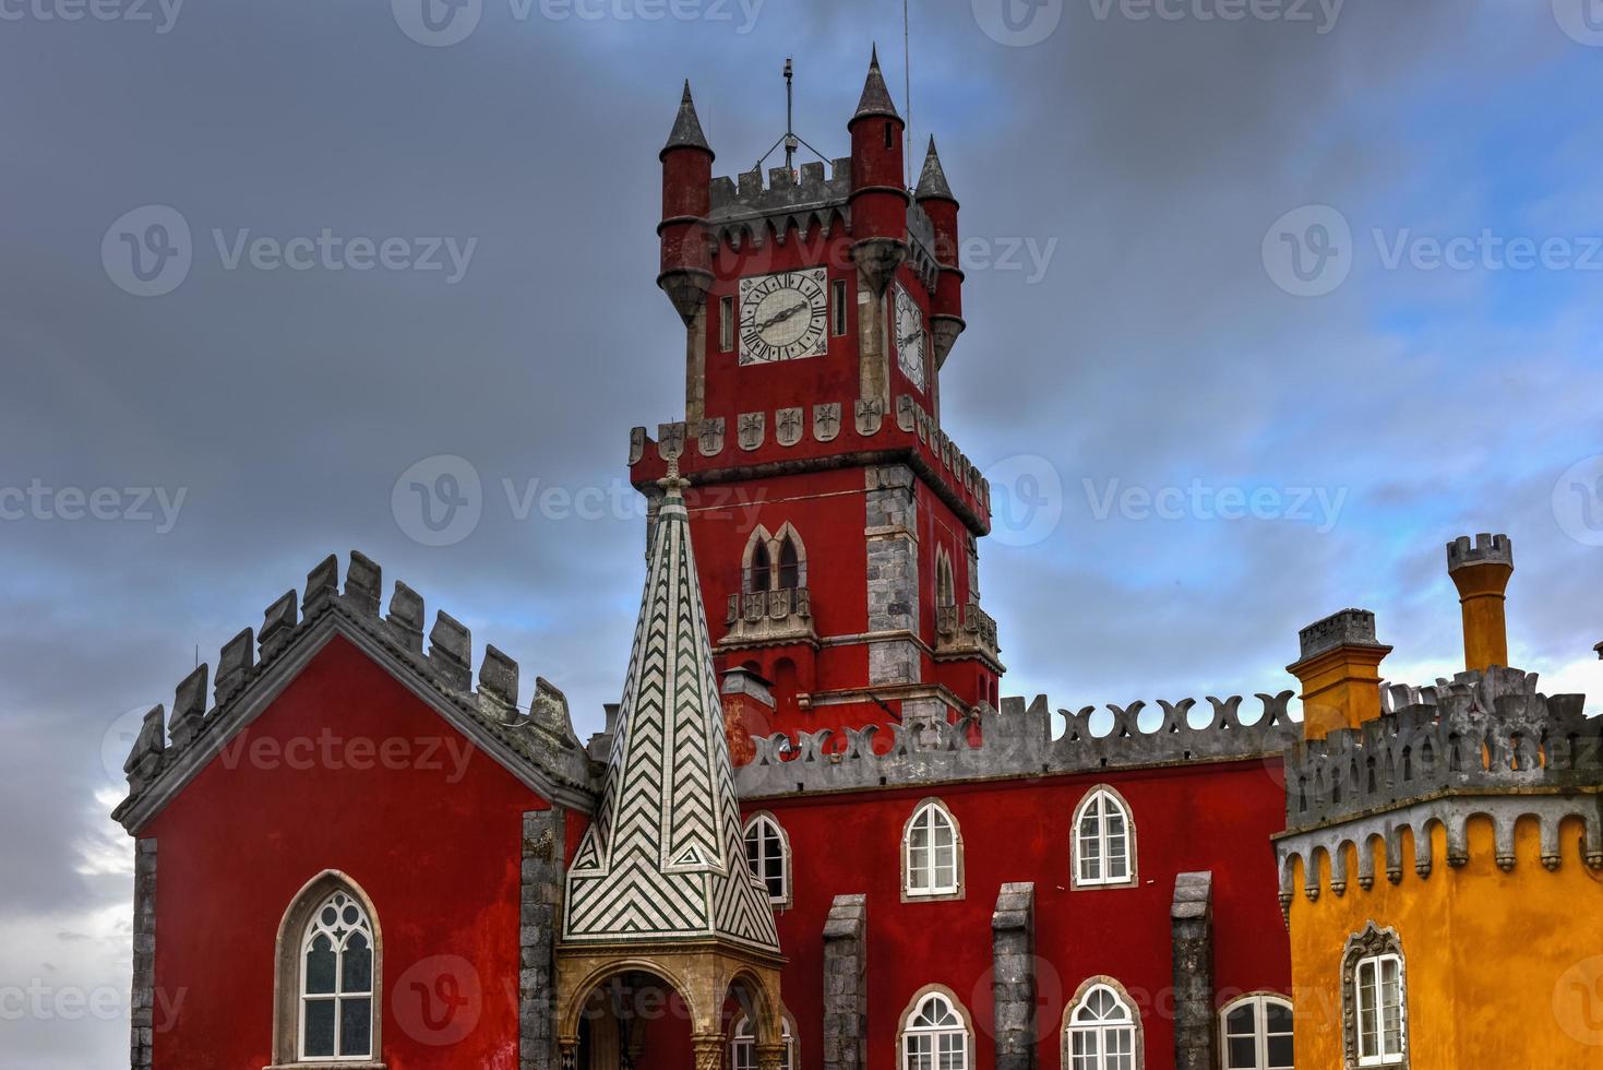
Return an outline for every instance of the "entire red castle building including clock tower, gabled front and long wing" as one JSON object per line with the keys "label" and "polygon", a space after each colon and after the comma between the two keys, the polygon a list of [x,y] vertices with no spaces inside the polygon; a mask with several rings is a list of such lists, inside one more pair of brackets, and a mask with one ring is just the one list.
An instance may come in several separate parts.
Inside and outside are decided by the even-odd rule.
{"label": "entire red castle building including clock tower, gabled front and long wing", "polygon": [[[382,611],[359,553],[343,587],[330,558],[231,640],[210,693],[202,667],[151,711],[117,812],[138,841],[133,1067],[1290,1065],[1270,842],[1290,693],[1137,703],[1111,733],[999,698],[989,489],[941,430],[959,205],[933,143],[907,189],[877,63],[848,133],[827,175],[713,178],[686,88],[659,278],[684,420],[632,435],[654,557],[606,732],[580,744],[543,680],[523,706],[494,646],[474,683],[444,613],[425,650],[422,598],[396,584]],[[675,610],[697,590],[701,624]],[[664,616],[683,621],[654,638]],[[705,653],[694,687],[676,648]],[[692,770],[712,817],[654,783],[691,759],[648,709],[728,743],[733,773]],[[725,812],[744,858],[713,836],[625,874],[656,863],[614,829],[660,821],[668,844]],[[673,879],[728,866],[777,946],[728,919],[644,932]],[[587,874],[588,943],[564,918]]]}

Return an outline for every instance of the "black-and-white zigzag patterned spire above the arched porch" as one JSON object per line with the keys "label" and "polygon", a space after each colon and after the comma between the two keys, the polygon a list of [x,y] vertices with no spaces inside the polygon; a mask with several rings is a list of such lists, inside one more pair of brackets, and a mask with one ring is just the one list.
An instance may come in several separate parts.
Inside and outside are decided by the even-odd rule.
{"label": "black-and-white zigzag patterned spire above the arched porch", "polygon": [[768,894],[745,865],[686,483],[670,467],[662,486],[601,804],[567,873],[563,940],[723,938],[777,951]]}

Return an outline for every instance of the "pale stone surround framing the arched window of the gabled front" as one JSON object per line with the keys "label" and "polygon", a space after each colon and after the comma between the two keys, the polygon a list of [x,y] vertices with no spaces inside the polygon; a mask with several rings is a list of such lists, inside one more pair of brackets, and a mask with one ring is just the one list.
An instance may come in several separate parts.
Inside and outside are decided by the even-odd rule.
{"label": "pale stone surround framing the arched window of the gabled front", "polygon": [[[301,998],[301,937],[314,910],[335,892],[346,892],[361,903],[367,922],[373,929],[373,1046],[370,1059],[301,1059],[300,1057],[300,998]],[[386,1070],[383,1062],[383,999],[385,990],[385,935],[367,892],[345,873],[324,869],[295,894],[284,918],[273,953],[273,1064],[264,1070]]]}

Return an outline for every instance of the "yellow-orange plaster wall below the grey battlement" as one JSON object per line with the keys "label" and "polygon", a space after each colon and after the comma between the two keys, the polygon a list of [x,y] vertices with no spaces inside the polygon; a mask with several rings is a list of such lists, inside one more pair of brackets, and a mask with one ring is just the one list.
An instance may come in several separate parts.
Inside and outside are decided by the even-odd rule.
{"label": "yellow-orange plaster wall below the grey battlement", "polygon": [[1489,820],[1468,826],[1470,861],[1448,866],[1446,831],[1431,826],[1433,868],[1414,871],[1404,833],[1403,881],[1358,884],[1348,855],[1345,895],[1310,903],[1297,866],[1290,906],[1297,1068],[1340,1070],[1342,951],[1372,921],[1403,942],[1411,1070],[1603,1070],[1603,874],[1582,860],[1579,821],[1561,829],[1563,863],[1548,873],[1534,820],[1515,834],[1518,861],[1497,868]]}

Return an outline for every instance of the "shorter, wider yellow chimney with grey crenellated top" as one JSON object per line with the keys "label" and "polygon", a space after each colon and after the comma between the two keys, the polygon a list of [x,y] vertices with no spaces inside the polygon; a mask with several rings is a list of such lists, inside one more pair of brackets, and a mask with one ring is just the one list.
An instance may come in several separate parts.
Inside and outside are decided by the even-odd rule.
{"label": "shorter, wider yellow chimney with grey crenellated top", "polygon": [[1305,740],[1380,717],[1380,663],[1391,648],[1375,642],[1374,613],[1342,610],[1297,638],[1302,658],[1286,671],[1302,683]]}

